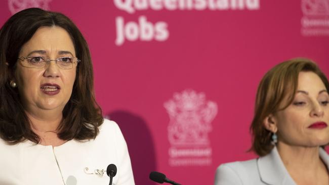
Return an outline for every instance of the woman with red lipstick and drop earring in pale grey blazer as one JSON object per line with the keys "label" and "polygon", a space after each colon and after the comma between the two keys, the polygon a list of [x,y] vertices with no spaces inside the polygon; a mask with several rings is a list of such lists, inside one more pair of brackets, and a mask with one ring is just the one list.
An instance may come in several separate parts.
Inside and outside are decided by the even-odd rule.
{"label": "woman with red lipstick and drop earring in pale grey blazer", "polygon": [[329,184],[329,83],[308,59],[278,64],[261,80],[251,125],[260,156],[226,163],[215,185]]}

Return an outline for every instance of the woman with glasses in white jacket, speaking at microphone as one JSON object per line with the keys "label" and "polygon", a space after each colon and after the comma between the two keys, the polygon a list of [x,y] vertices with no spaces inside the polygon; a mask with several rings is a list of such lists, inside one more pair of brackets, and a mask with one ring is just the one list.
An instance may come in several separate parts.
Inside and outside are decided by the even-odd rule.
{"label": "woman with glasses in white jacket, speaking at microphone", "polygon": [[95,101],[88,45],[63,14],[26,9],[0,30],[0,184],[134,184],[117,124]]}

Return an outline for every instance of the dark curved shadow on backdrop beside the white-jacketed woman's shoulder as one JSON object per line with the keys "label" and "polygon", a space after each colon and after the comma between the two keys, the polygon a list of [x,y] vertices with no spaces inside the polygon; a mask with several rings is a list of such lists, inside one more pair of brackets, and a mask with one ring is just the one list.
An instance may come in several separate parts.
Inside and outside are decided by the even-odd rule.
{"label": "dark curved shadow on backdrop beside the white-jacketed woman's shoulder", "polygon": [[155,185],[148,177],[151,171],[156,171],[155,149],[151,132],[144,119],[122,110],[110,112],[106,117],[115,121],[125,136],[135,183]]}

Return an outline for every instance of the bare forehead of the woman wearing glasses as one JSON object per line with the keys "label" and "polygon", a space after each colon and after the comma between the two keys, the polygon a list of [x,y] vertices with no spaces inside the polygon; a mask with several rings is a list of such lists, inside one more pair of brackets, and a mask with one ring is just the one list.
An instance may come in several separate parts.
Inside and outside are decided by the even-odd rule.
{"label": "bare forehead of the woman wearing glasses", "polygon": [[58,26],[40,27],[36,30],[20,51],[25,56],[33,51],[45,51],[47,54],[57,54],[58,51],[68,51],[75,56],[74,44],[69,33]]}

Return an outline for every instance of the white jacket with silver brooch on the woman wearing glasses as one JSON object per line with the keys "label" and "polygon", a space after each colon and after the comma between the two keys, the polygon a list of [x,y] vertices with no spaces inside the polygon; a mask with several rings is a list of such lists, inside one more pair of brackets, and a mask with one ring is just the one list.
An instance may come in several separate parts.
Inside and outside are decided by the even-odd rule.
{"label": "white jacket with silver brooch on the woman wearing glasses", "polygon": [[135,184],[125,138],[107,119],[87,142],[52,147],[31,141],[7,145],[0,139],[1,185],[103,185],[110,181],[105,170],[111,163],[117,167],[113,185]]}

